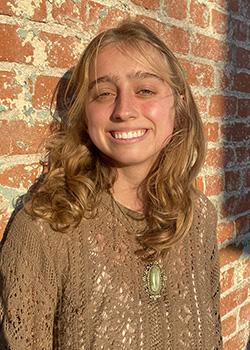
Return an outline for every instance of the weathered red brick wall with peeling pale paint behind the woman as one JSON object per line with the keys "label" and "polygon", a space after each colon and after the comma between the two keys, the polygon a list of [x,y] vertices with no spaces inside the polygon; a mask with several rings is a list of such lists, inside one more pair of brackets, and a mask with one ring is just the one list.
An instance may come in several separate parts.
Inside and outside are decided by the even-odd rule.
{"label": "weathered red brick wall with peeling pale paint behind the woman", "polygon": [[225,350],[247,349],[250,320],[249,0],[1,0],[0,230],[41,172],[58,79],[100,30],[132,17],[182,63],[208,135],[197,184],[218,210]]}

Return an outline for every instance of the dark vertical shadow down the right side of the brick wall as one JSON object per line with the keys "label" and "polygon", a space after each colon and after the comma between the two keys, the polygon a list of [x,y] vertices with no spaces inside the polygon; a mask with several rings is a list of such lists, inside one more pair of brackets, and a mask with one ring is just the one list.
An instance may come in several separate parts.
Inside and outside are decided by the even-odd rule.
{"label": "dark vertical shadow down the right side of the brick wall", "polygon": [[[219,215],[234,225],[224,249],[227,254],[237,251],[239,262],[242,258],[250,259],[250,75],[246,73],[250,69],[250,51],[245,50],[249,43],[243,30],[249,21],[248,1],[228,2],[231,7],[228,9],[228,59],[223,96],[219,97],[224,105],[221,126],[224,193]],[[245,349],[250,350],[250,335]]]}

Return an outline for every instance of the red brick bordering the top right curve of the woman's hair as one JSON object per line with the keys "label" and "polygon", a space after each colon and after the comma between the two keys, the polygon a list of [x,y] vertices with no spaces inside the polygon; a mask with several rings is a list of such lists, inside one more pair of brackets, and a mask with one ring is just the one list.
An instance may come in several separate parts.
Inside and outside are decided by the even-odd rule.
{"label": "red brick bordering the top right curve of the woman's hair", "polygon": [[144,22],[157,35],[164,40],[165,44],[173,51],[186,55],[189,52],[189,32],[175,26],[166,27],[154,19],[136,16],[138,21]]}

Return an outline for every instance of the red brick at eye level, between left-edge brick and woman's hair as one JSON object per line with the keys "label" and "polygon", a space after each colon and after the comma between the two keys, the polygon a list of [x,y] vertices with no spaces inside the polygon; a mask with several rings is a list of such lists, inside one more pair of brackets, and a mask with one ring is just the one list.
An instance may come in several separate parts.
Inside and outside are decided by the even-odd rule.
{"label": "red brick at eye level, between left-edge brick and woman's hair", "polygon": [[32,98],[33,107],[40,109],[49,107],[53,92],[57,86],[59,78],[47,75],[40,75],[36,79],[35,92]]}

